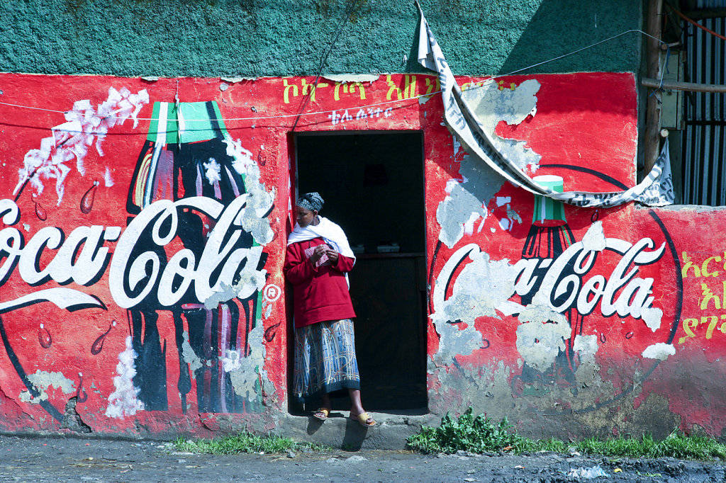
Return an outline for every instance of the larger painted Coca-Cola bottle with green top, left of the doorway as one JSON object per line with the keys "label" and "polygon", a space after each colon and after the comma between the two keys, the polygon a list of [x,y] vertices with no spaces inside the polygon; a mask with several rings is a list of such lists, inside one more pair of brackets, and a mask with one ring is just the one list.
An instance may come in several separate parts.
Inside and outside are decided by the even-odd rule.
{"label": "larger painted Coca-Cola bottle with green top, left of the doorway", "polygon": [[[155,102],[149,133],[129,186],[129,215],[139,214],[160,199],[210,197],[229,205],[245,193],[240,167],[234,165],[234,157],[229,154],[230,141],[216,102]],[[215,221],[190,208],[180,208],[178,216],[177,242],[191,250],[195,260],[200,260]],[[136,249],[158,252],[164,265],[163,247],[152,243],[150,236],[142,234]],[[146,242],[144,237],[148,238]],[[253,244],[253,236],[245,232],[234,248]],[[131,287],[128,289],[133,293]],[[240,358],[250,351],[247,334],[256,323],[258,292],[245,300],[232,299],[212,307],[197,300],[192,286],[171,307],[161,307],[153,296],[155,292],[152,290],[129,310],[132,344],[137,354],[134,385],[139,388],[144,408],[167,409],[166,340],[162,342],[157,322],[160,310],[169,310],[174,317],[174,342],[179,354],[177,389],[182,410],[187,408],[192,378],[196,381],[200,413],[250,410],[250,401],[234,392],[229,366],[234,366],[235,361],[239,364]]]}

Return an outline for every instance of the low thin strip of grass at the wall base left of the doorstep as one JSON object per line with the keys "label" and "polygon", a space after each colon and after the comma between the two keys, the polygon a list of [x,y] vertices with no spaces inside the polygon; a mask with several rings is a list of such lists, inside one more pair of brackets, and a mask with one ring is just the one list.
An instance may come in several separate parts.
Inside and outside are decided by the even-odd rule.
{"label": "low thin strip of grass at the wall base left of the doorstep", "polygon": [[242,432],[234,436],[213,439],[186,439],[178,437],[174,441],[174,449],[187,453],[205,453],[211,455],[236,455],[239,453],[285,453],[288,450],[309,448],[315,451],[326,451],[330,448],[313,443],[297,443],[290,438],[268,434],[256,436],[250,432]]}

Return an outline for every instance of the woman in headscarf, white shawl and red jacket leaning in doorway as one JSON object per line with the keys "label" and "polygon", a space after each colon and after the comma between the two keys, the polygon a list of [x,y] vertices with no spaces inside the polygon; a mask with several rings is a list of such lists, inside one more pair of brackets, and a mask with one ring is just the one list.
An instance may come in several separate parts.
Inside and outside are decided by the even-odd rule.
{"label": "woman in headscarf, white shawl and red jacket leaning in doorway", "polygon": [[295,364],[293,392],[301,400],[322,399],[313,416],[330,414],[330,392],[348,389],[351,419],[363,426],[375,421],[361,405],[348,272],[356,261],[340,226],[318,215],[317,193],[298,199],[298,223],[287,238],[285,277],[293,284]]}

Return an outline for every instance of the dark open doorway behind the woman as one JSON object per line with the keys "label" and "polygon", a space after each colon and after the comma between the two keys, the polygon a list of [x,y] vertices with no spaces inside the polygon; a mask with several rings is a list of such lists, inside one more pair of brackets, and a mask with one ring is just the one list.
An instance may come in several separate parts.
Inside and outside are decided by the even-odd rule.
{"label": "dark open doorway behind the woman", "polygon": [[[295,157],[298,194],[318,191],[321,215],[358,252],[350,284],[364,408],[425,413],[423,133],[300,133]],[[333,395],[333,409],[348,408]]]}

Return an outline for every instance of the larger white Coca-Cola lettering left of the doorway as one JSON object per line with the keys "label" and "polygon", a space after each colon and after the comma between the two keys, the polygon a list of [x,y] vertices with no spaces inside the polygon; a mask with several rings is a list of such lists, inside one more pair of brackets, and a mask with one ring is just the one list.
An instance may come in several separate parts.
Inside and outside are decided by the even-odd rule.
{"label": "larger white Coca-Cola lettering left of the doorway", "polygon": [[[249,297],[264,286],[266,271],[258,268],[261,246],[240,246],[248,196],[242,194],[227,206],[208,197],[160,200],[142,210],[124,231],[118,226],[79,226],[66,236],[61,228],[47,226],[28,241],[16,228],[20,209],[12,200],[2,199],[0,217],[6,226],[0,230],[0,285],[17,271],[29,286],[49,281],[91,286],[110,266],[110,294],[123,308],[135,307],[150,296],[168,307],[179,302],[189,289],[200,302],[232,286],[234,296]],[[208,217],[214,222],[213,228],[200,256],[192,249],[181,248],[167,260],[164,248],[171,246],[178,235],[182,210]],[[112,254],[106,244],[113,241],[116,244]],[[53,251],[52,259],[41,267],[41,258]],[[235,286],[240,280],[244,283]],[[14,300],[0,300],[0,311],[43,300],[59,305],[63,300],[90,303],[93,299],[68,287],[40,289]]]}

